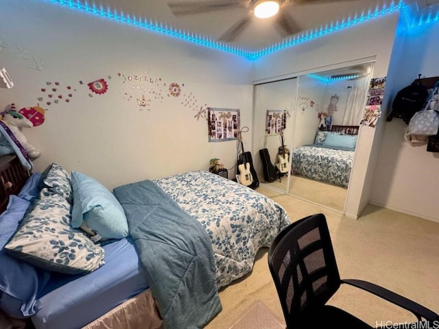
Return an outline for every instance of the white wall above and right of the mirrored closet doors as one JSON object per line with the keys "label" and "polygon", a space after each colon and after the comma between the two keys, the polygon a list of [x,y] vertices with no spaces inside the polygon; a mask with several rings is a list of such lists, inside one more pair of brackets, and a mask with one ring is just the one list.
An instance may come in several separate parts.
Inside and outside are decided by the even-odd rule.
{"label": "white wall above and right of the mirrored closet doors", "polygon": [[[254,80],[269,80],[289,75],[298,75],[300,71],[322,71],[335,67],[334,64],[351,64],[361,58],[375,58],[372,77],[387,75],[396,25],[399,13],[394,12],[350,29],[339,31],[324,38],[296,45],[278,51],[258,60],[254,69]],[[346,65],[344,65],[346,66]],[[381,121],[383,118],[381,118]],[[372,180],[368,165],[374,164],[372,146],[374,146],[375,130],[364,127],[360,130],[359,141],[355,152],[355,164],[349,184],[345,213],[357,218],[364,204],[369,201],[368,190],[364,190],[366,182]],[[375,145],[379,147],[379,145]],[[366,194],[364,194],[364,192]]]}

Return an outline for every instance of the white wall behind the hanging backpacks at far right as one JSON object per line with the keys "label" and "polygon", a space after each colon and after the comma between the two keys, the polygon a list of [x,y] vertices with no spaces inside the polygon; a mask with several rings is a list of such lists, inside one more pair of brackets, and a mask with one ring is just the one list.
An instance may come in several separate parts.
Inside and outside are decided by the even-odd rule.
{"label": "white wall behind the hanging backpacks at far right", "polygon": [[[392,56],[392,99],[421,73],[439,76],[439,25],[431,23],[401,33],[401,51]],[[434,41],[436,40],[436,41]],[[426,145],[404,141],[407,125],[401,119],[383,122],[385,130],[373,179],[370,202],[425,219],[439,221],[439,155]]]}

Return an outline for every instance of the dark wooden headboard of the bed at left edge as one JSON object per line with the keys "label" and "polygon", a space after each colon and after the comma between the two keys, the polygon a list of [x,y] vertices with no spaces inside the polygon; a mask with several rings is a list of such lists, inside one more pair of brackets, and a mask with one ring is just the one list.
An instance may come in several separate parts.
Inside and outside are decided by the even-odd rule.
{"label": "dark wooden headboard of the bed at left edge", "polygon": [[6,209],[11,194],[18,194],[31,175],[15,154],[0,156],[0,213]]}

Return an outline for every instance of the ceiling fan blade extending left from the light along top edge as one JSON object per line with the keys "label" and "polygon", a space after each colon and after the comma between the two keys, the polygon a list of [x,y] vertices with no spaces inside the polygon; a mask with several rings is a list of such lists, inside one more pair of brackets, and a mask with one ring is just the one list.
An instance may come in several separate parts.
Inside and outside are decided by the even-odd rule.
{"label": "ceiling fan blade extending left from the light along top edge", "polygon": [[230,8],[245,8],[243,0],[216,0],[216,1],[190,1],[167,4],[174,15],[198,14],[213,10],[225,10]]}

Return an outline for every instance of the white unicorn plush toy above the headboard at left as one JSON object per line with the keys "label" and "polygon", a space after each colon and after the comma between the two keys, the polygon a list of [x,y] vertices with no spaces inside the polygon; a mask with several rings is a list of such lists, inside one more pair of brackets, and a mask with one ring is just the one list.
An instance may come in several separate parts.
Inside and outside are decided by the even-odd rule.
{"label": "white unicorn plush toy above the headboard at left", "polygon": [[[14,104],[11,108],[5,110],[1,113],[1,121],[8,125],[9,130],[14,134],[15,138],[23,145],[24,149],[27,151],[29,158],[36,159],[40,156],[41,152],[34,147],[32,144],[27,142],[26,136],[21,132],[21,127],[33,127],[33,123],[26,119],[22,114],[16,112]],[[3,136],[2,136],[3,138]]]}

